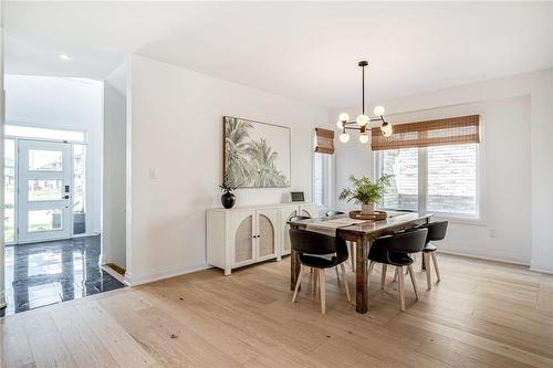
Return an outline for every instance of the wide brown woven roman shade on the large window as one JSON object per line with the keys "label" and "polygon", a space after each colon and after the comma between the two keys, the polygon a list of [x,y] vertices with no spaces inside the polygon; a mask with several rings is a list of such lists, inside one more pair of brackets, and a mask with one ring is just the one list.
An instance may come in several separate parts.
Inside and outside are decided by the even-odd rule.
{"label": "wide brown woven roman shade on the large window", "polygon": [[389,137],[379,128],[371,132],[373,150],[480,143],[480,115],[397,124]]}

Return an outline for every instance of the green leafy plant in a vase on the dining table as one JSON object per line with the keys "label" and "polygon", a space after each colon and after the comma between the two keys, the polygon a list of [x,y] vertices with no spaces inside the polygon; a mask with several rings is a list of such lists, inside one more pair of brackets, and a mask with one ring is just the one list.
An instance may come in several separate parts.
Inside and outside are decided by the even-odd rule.
{"label": "green leafy plant in a vase on the dining table", "polygon": [[389,186],[389,179],[392,175],[383,175],[375,181],[367,177],[356,178],[355,176],[349,176],[349,181],[353,188],[342,189],[338,199],[341,201],[354,202],[361,204],[362,213],[374,213],[375,203],[382,201],[384,197],[384,189]]}

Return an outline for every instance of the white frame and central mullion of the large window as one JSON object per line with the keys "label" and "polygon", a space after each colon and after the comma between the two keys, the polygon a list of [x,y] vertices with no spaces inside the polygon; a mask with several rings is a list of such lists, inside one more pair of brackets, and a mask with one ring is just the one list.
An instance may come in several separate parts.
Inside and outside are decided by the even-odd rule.
{"label": "white frame and central mullion of the large window", "polygon": [[[374,155],[374,168],[375,168],[375,178],[382,176],[382,167],[380,167],[380,153],[375,151]],[[482,143],[477,144],[477,153],[476,153],[476,161],[477,161],[477,183],[476,183],[476,197],[477,197],[477,215],[467,214],[467,213],[455,213],[455,212],[436,212],[431,211],[431,213],[440,219],[440,220],[449,220],[456,223],[466,223],[466,224],[484,224],[483,217],[483,145]],[[418,212],[427,212],[427,194],[428,194],[428,149],[427,147],[418,148]],[[383,210],[397,210],[392,208],[382,208]],[[429,211],[428,211],[429,212]]]}

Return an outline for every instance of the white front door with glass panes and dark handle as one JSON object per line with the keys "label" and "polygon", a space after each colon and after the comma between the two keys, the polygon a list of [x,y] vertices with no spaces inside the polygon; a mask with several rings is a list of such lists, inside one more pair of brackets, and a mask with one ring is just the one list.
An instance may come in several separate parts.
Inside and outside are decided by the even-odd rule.
{"label": "white front door with glass panes and dark handle", "polygon": [[23,140],[18,156],[19,241],[71,236],[71,144]]}

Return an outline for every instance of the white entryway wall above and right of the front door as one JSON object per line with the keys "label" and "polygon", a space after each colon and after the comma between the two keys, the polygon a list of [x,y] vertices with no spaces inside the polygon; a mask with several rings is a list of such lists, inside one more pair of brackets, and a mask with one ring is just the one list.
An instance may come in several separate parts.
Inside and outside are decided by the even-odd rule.
{"label": "white entryway wall above and right of the front door", "polygon": [[6,76],[6,120],[39,127],[86,130],[86,232],[100,232],[102,188],[102,88],[92,80]]}

